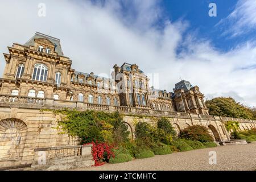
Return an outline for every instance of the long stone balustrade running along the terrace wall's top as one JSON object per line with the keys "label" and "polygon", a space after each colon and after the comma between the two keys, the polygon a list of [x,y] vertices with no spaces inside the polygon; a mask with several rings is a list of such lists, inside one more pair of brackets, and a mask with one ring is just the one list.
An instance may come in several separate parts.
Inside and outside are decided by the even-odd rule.
{"label": "long stone balustrade running along the terrace wall's top", "polygon": [[[20,105],[22,104],[22,105]],[[199,119],[214,119],[220,121],[238,121],[246,123],[256,123],[254,120],[230,117],[218,117],[213,115],[181,113],[175,111],[163,111],[138,107],[125,106],[109,106],[100,104],[89,104],[85,102],[53,100],[52,98],[32,98],[22,96],[10,96],[0,94],[0,106],[16,106],[16,107],[40,107],[41,109],[61,109],[61,108],[77,108],[79,110],[102,110],[102,111],[119,111],[126,114],[146,114],[152,116],[166,116],[174,118],[199,118]]]}

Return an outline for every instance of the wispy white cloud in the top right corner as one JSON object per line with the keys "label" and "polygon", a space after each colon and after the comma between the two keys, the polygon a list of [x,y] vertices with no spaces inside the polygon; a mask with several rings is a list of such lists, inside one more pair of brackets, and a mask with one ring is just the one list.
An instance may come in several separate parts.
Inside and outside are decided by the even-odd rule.
{"label": "wispy white cloud in the top right corner", "polygon": [[236,37],[251,30],[256,30],[256,1],[240,0],[228,17],[221,19],[217,24],[224,27],[223,35]]}

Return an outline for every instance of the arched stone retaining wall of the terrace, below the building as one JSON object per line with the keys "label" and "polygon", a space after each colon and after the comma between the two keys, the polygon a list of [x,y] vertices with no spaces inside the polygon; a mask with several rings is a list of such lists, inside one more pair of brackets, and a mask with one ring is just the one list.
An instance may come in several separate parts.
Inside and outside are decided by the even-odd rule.
{"label": "arched stone retaining wall of the terrace, below the building", "polygon": [[[56,130],[59,116],[56,116],[51,111],[41,111],[40,108],[34,109],[27,105],[0,105],[0,168],[13,166],[32,166],[35,162],[35,157],[38,148],[51,147],[67,147],[76,146],[77,138],[69,137],[67,134],[60,134]],[[102,110],[98,105],[89,105],[90,109]],[[104,107],[105,108],[105,107]],[[225,121],[240,122],[240,130],[256,128],[256,122],[249,119],[237,119],[226,117],[215,117],[211,115],[176,113],[157,110],[145,110],[132,107],[106,107],[107,112],[119,110],[124,116],[123,120],[129,125],[129,130],[134,133],[134,123],[145,121],[156,123],[159,117],[169,118],[177,133],[187,126],[202,125],[208,127],[214,139],[217,142],[227,142],[230,140],[228,131],[225,129]],[[105,109],[106,109],[105,108]],[[81,109],[84,110],[84,109]],[[55,148],[55,152],[64,152]],[[68,150],[67,150],[68,151]],[[50,153],[53,151],[47,151]],[[79,155],[77,155],[79,156]],[[74,160],[77,165],[89,162],[81,162],[83,159],[74,158],[73,156],[63,156],[56,159],[56,163],[51,160],[51,165],[54,167],[46,169],[57,169],[57,164],[61,164],[61,160]],[[88,158],[85,160],[87,161]],[[69,166],[68,162],[63,162],[60,169]],[[68,168],[68,167],[67,167]]]}

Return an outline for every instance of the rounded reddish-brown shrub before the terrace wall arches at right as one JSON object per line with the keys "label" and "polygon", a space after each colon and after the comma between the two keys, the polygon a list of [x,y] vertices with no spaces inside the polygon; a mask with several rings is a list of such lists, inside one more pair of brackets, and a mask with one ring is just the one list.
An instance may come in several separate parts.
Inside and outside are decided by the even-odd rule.
{"label": "rounded reddish-brown shrub before the terrace wall arches at right", "polygon": [[181,130],[180,138],[197,140],[199,142],[213,142],[208,128],[200,125],[188,126],[184,130]]}

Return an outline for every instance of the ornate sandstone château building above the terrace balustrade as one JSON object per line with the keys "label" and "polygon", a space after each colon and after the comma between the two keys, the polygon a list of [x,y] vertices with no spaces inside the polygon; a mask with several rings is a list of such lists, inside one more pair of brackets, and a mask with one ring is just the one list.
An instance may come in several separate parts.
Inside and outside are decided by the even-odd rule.
{"label": "ornate sandstone ch\u00e2teau building above the terrace balustrade", "polygon": [[204,95],[188,81],[178,82],[174,92],[168,93],[150,88],[148,77],[136,64],[114,65],[112,78],[78,72],[64,56],[60,40],[39,32],[27,43],[14,43],[8,49],[9,54],[4,53],[6,67],[0,94],[27,97],[29,102],[52,98],[208,115]]}

